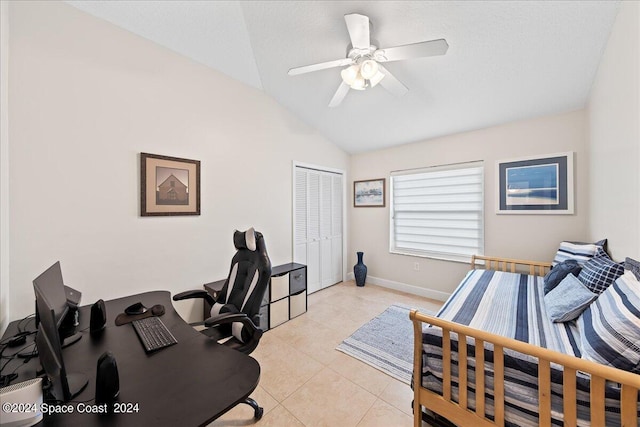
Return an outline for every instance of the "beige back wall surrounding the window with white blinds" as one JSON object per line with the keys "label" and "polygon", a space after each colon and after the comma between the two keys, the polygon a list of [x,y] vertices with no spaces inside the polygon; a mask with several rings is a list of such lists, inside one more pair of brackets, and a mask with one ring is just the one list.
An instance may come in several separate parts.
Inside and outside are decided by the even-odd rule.
{"label": "beige back wall surrounding the window with white blinds", "polygon": [[[436,138],[351,157],[353,180],[386,178],[395,170],[475,160],[485,162],[485,254],[550,261],[561,240],[584,240],[588,221],[588,163],[583,110]],[[497,215],[497,160],[575,152],[574,215]],[[353,191],[351,191],[353,193]],[[351,198],[353,195],[351,194]],[[350,205],[353,206],[351,200]],[[389,253],[389,192],[385,208],[349,209],[349,260],[365,252],[368,280],[434,298],[445,298],[468,264]],[[418,262],[419,271],[414,270]]]}

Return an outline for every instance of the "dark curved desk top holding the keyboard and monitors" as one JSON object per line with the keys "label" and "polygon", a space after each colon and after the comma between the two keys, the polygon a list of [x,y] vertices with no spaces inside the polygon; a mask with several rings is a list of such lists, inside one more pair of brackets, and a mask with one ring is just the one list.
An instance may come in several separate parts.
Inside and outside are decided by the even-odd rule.
{"label": "dark curved desk top holding the keyboard and monitors", "polygon": [[[146,354],[133,326],[115,326],[115,318],[125,307],[142,302],[151,307],[162,304],[164,324],[178,343]],[[80,309],[82,339],[63,349],[67,372],[81,372],[89,384],[71,404],[93,404],[96,363],[105,351],[116,358],[120,376],[120,402],[137,403],[131,414],[56,414],[45,417],[45,426],[197,426],[206,425],[247,398],[260,379],[258,362],[238,351],[217,344],[189,326],[175,311],[169,292],[147,292],[106,302],[107,328],[98,338],[89,335],[90,307]],[[12,322],[4,337],[17,331]],[[24,325],[22,325],[24,327]],[[33,329],[33,322],[28,328]],[[32,337],[30,338],[32,340]],[[6,354],[5,354],[6,355]],[[11,363],[22,363],[22,360]],[[18,368],[14,383],[35,377],[38,359]],[[17,366],[17,365],[14,365]],[[11,372],[13,368],[7,368]]]}

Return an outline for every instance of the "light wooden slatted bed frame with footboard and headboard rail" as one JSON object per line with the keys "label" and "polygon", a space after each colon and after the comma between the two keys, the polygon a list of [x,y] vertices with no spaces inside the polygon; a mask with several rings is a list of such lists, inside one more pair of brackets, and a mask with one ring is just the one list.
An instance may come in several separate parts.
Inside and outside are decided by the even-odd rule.
{"label": "light wooden slatted bed frame with footboard and headboard rail", "polygon": [[[480,262],[478,262],[480,261]],[[474,256],[471,266],[484,264],[485,269],[522,272],[528,269],[528,274],[543,276],[550,263],[532,262],[507,258],[494,258]],[[413,321],[414,328],[414,426],[422,423],[422,407],[461,425],[473,426],[504,426],[504,349],[512,349],[517,352],[531,355],[538,359],[538,383],[539,383],[539,425],[551,425],[551,363],[563,367],[563,410],[564,425],[567,427],[577,425],[576,415],[576,371],[582,371],[591,375],[590,381],[590,411],[591,425],[605,425],[605,382],[620,383],[621,390],[621,425],[638,426],[637,399],[640,389],[640,375],[616,369],[610,366],[580,359],[578,357],[537,347],[522,341],[491,334],[478,329],[428,316],[412,310],[409,317]],[[422,386],[422,324],[437,326],[443,330],[443,395],[427,390]],[[485,343],[492,344],[494,348],[494,375],[495,375],[495,420],[486,418],[485,413],[485,361],[484,353],[477,352],[476,369],[476,409],[472,411],[467,403],[467,348],[460,346],[459,354],[459,391],[460,402],[451,398],[451,333],[458,334],[458,340],[464,342],[468,337],[475,340],[476,347]],[[478,392],[483,390],[483,392]]]}

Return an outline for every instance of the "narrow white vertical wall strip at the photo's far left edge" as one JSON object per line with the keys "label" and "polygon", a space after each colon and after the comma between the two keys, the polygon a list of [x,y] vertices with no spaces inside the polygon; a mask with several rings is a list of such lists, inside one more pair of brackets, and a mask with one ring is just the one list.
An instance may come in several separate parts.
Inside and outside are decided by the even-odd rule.
{"label": "narrow white vertical wall strip at the photo's far left edge", "polygon": [[9,4],[0,2],[0,335],[9,312]]}

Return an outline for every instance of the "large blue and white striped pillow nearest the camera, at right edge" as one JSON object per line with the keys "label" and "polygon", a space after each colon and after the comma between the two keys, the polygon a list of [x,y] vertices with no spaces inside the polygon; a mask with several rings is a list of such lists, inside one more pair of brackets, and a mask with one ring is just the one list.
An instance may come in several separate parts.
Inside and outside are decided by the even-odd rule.
{"label": "large blue and white striped pillow nearest the camera, at right edge", "polygon": [[578,318],[582,358],[640,373],[640,282],[620,276]]}

